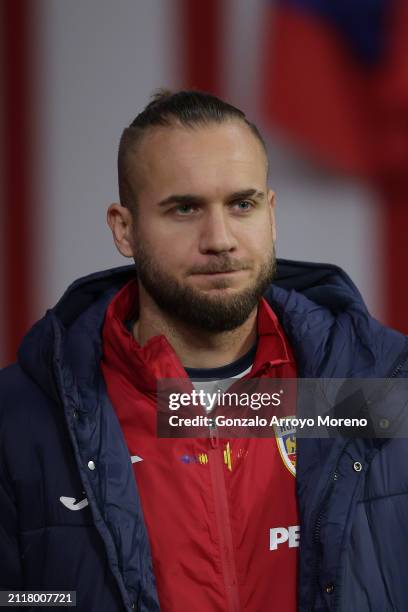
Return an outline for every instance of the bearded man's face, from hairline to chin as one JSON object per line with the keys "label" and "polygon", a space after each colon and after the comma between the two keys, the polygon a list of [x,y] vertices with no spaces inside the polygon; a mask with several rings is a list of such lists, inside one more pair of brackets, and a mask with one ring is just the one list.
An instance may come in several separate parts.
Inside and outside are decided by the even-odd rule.
{"label": "bearded man's face, from hairline to chin", "polygon": [[142,287],[162,311],[197,329],[242,325],[275,266],[261,144],[239,121],[156,128],[134,159],[132,250]]}

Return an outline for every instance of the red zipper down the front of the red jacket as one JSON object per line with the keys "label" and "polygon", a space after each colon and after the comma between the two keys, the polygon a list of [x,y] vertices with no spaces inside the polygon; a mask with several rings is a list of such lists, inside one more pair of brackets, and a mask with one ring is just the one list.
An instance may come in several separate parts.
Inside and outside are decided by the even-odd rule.
{"label": "red zipper down the front of the red jacket", "polygon": [[210,428],[209,468],[214,492],[215,515],[218,527],[219,550],[221,557],[224,587],[227,595],[228,612],[239,612],[238,579],[235,568],[234,546],[229,517],[228,497],[225,487],[222,449],[219,445],[218,430]]}

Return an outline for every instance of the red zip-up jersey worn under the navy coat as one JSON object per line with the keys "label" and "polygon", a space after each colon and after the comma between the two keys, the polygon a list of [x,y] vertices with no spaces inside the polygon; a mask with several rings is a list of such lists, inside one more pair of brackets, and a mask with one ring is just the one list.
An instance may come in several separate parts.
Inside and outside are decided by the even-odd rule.
{"label": "red zip-up jersey worn under the navy coat", "polygon": [[[163,612],[295,612],[299,518],[295,441],[156,436],[156,383],[187,373],[164,336],[142,348],[124,325],[132,281],[111,302],[102,370],[132,457]],[[265,300],[246,378],[296,378]]]}

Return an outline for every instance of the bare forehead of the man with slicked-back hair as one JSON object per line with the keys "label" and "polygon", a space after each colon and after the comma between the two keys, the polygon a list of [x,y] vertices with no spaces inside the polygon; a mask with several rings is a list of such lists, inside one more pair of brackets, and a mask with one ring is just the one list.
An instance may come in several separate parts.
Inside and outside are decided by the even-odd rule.
{"label": "bare forehead of the man with slicked-back hair", "polygon": [[[240,121],[154,128],[134,156],[140,196],[264,189],[267,160],[250,128]],[[136,170],[137,168],[137,170]]]}

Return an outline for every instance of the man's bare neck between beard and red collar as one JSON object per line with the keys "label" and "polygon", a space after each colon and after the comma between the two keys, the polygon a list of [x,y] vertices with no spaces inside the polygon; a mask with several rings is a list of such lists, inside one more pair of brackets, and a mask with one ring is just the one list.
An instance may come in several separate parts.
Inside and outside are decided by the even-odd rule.
{"label": "man's bare neck between beard and red collar", "polygon": [[236,329],[199,330],[164,313],[139,286],[139,318],[133,335],[140,346],[153,336],[166,336],[186,368],[218,368],[245,355],[256,342],[257,309]]}

